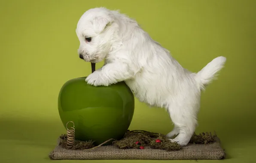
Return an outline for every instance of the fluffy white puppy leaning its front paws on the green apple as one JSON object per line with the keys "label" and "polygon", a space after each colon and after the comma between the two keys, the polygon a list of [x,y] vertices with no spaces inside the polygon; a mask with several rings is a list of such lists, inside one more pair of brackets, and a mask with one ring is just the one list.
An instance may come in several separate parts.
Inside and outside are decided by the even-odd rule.
{"label": "fluffy white puppy leaning its front paws on the green apple", "polygon": [[200,92],[226,62],[216,57],[198,73],[184,69],[168,50],[155,42],[137,22],[118,11],[94,8],[80,18],[76,34],[79,57],[104,66],[85,79],[108,86],[125,81],[140,102],[165,108],[174,123],[172,142],[185,146],[197,126]]}

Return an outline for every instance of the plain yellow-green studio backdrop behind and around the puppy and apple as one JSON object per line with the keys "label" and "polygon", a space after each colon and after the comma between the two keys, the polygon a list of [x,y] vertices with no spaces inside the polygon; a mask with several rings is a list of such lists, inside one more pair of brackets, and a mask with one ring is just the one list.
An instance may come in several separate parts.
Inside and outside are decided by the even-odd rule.
{"label": "plain yellow-green studio backdrop behind and around the puppy and apple", "polygon": [[[1,0],[0,162],[51,161],[48,154],[65,132],[57,108],[60,88],[67,80],[91,72],[90,64],[77,55],[76,23],[85,10],[99,6],[135,18],[193,72],[214,57],[227,57],[219,79],[201,96],[196,132],[216,131],[227,153],[221,161],[254,162],[250,160],[256,158],[254,0]],[[164,109],[137,100],[135,107],[131,130],[172,130]]]}

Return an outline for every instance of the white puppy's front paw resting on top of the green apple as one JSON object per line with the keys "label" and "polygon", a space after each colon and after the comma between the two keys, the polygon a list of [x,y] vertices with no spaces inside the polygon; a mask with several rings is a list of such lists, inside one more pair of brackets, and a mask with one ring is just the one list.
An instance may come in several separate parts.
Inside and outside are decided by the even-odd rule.
{"label": "white puppy's front paw resting on top of the green apple", "polygon": [[101,73],[101,71],[94,71],[88,77],[85,79],[85,82],[87,82],[89,85],[94,86],[108,86],[108,83],[106,80],[104,80],[104,77]]}

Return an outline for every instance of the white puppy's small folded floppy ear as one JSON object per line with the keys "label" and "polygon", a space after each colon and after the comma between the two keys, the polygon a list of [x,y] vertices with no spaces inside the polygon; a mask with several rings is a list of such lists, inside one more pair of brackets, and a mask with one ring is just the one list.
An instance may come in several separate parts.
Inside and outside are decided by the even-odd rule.
{"label": "white puppy's small folded floppy ear", "polygon": [[92,21],[96,33],[101,33],[108,25],[111,24],[111,22],[111,19],[102,17],[94,18]]}

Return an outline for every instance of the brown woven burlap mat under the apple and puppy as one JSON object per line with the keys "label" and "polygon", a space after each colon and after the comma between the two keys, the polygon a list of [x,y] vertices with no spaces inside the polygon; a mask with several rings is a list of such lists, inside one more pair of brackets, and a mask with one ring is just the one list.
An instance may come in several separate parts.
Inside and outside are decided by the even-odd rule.
{"label": "brown woven burlap mat under the apple and puppy", "polygon": [[160,149],[119,149],[113,145],[104,145],[95,149],[68,150],[58,144],[49,157],[52,160],[221,160],[225,152],[216,142],[209,145],[189,144],[179,151]]}

